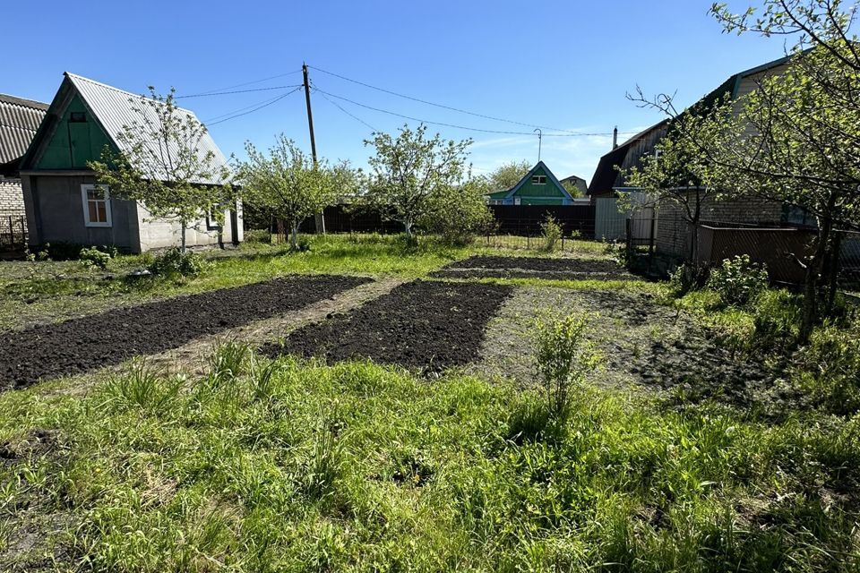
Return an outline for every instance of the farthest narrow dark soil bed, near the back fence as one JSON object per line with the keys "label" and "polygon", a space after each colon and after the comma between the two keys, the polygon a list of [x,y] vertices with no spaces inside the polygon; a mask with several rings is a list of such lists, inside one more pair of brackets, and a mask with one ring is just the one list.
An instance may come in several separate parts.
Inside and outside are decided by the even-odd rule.
{"label": "farthest narrow dark soil bed, near the back fence", "polygon": [[431,274],[437,278],[638,279],[606,259],[544,259],[479,255],[455,261]]}

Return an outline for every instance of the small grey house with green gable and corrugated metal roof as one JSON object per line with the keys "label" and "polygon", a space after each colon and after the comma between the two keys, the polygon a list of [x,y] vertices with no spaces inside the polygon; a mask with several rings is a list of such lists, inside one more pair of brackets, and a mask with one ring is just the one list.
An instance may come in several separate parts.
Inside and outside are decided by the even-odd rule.
{"label": "small grey house with green gable and corrugated metal roof", "polygon": [[[153,218],[140,202],[112,196],[110,189],[96,185],[88,167],[88,162],[99,160],[106,148],[114,153],[126,150],[128,143],[120,137],[125,126],[159,121],[150,105],[141,105],[143,99],[99,81],[64,73],[20,166],[31,245],[111,244],[128,252],[144,252],[178,243],[178,222]],[[192,111],[180,109],[179,113],[196,120]],[[153,150],[158,144],[150,142]],[[213,157],[213,168],[227,166],[227,158],[209,133],[203,135],[196,151],[202,158]],[[157,172],[153,176],[159,178]],[[226,182],[214,178],[196,183]],[[224,220],[227,225],[220,227],[211,218],[202,217],[187,231],[187,244],[241,241],[241,205],[225,210]]]}

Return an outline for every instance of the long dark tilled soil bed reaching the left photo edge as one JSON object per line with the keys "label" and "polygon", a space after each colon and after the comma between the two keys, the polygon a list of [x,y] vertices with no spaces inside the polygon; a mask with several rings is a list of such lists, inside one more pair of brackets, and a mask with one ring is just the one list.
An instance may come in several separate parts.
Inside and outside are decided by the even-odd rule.
{"label": "long dark tilled soil bed reaching the left photo edge", "polygon": [[0,390],[164,352],[193,338],[297,310],[369,280],[279,278],[7,332],[0,335]]}

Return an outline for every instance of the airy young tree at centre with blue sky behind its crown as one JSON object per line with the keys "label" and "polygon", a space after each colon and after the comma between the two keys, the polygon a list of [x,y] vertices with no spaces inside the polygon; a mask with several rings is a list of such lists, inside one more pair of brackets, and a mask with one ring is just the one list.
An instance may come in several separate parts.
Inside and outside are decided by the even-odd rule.
{"label": "airy young tree at centre with blue sky behind its crown", "polygon": [[432,197],[462,180],[472,142],[443,141],[438,133],[427,138],[426,130],[424,124],[415,131],[404,125],[396,138],[374,133],[373,140],[365,141],[376,151],[369,159],[372,173],[366,201],[400,221],[409,242],[418,218],[430,210]]}

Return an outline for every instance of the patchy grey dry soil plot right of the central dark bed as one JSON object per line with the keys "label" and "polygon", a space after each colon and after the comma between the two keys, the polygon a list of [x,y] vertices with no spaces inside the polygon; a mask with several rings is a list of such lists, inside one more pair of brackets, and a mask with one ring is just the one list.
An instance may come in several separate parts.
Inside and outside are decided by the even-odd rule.
{"label": "patchy grey dry soil plot right of the central dark bed", "polygon": [[472,368],[533,383],[530,333],[542,309],[589,313],[589,337],[604,355],[604,368],[593,379],[598,385],[632,384],[744,407],[778,392],[773,372],[733,356],[684,313],[655,304],[652,295],[616,291],[518,288],[488,325],[481,360]]}

